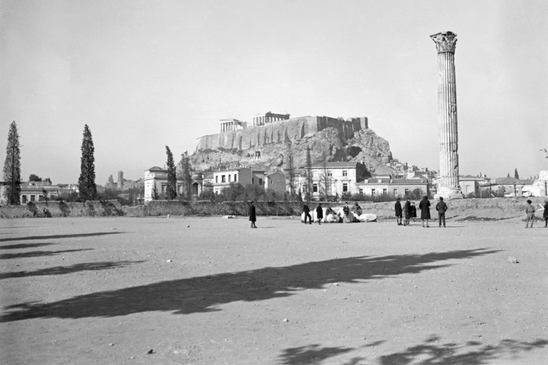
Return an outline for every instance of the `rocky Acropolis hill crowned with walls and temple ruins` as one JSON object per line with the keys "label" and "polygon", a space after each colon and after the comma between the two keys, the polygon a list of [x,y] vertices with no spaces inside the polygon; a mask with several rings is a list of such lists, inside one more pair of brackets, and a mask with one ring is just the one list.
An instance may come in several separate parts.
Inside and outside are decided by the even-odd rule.
{"label": "rocky Acropolis hill crowned with walls and temple ruins", "polygon": [[301,116],[268,112],[253,118],[253,125],[237,119],[221,120],[221,133],[199,138],[192,167],[208,171],[247,166],[266,171],[286,168],[288,146],[295,168],[306,165],[310,147],[312,164],[327,161],[363,162],[370,172],[392,160],[388,141],[369,129],[368,119]]}

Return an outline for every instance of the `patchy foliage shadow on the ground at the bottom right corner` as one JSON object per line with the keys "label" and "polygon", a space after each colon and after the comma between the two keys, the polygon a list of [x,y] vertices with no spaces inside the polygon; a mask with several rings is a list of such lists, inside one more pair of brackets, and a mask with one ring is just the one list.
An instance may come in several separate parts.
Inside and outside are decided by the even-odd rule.
{"label": "patchy foliage shadow on the ground at the bottom right corner", "polygon": [[[405,351],[382,355],[378,358],[367,359],[363,356],[352,357],[341,365],[483,365],[490,364],[497,359],[506,359],[510,364],[519,362],[522,353],[546,347],[548,340],[536,339],[533,342],[502,340],[499,344],[482,345],[479,342],[464,344],[439,344],[438,336],[430,336],[423,343],[408,347]],[[364,347],[367,347],[366,345]],[[351,351],[360,351],[360,348],[351,347],[320,347],[312,344],[305,347],[285,349],[279,356],[280,364],[284,365],[312,365],[321,364],[329,357],[335,357]]]}

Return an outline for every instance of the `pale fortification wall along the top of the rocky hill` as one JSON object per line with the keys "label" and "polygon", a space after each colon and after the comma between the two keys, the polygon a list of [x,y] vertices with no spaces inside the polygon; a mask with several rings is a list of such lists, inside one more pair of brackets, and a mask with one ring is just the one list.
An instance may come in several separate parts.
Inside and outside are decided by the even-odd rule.
{"label": "pale fortification wall along the top of the rocky hill", "polygon": [[362,129],[363,125],[367,126],[367,118],[351,118],[349,121],[341,121],[329,116],[303,116],[259,127],[203,136],[198,142],[196,151],[207,149],[243,151],[265,144],[285,143],[289,140],[312,136],[327,127],[334,127],[340,137],[351,139]]}

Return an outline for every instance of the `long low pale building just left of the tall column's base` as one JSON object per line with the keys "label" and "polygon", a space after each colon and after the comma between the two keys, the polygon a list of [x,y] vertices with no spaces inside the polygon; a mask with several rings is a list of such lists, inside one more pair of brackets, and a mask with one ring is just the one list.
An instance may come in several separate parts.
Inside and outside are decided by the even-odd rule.
{"label": "long low pale building just left of the tall column's base", "polygon": [[373,197],[378,194],[390,194],[395,197],[403,197],[414,190],[421,190],[421,194],[430,193],[427,179],[394,179],[393,177],[375,176],[356,184],[358,193]]}

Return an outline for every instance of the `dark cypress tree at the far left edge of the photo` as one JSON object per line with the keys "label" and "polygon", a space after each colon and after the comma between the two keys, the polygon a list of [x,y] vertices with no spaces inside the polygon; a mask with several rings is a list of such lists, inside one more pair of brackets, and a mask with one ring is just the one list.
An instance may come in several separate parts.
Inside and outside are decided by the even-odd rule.
{"label": "dark cypress tree at the far left edge of the photo", "polygon": [[4,197],[8,204],[19,204],[21,197],[21,151],[19,150],[19,134],[15,121],[8,131],[8,144],[5,146],[4,162]]}

